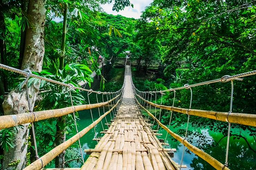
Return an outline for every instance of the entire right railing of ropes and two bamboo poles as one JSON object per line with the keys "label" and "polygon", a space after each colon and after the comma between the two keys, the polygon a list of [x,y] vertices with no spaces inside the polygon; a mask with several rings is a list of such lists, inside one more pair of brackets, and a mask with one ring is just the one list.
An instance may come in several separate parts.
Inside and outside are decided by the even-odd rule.
{"label": "entire right railing of ropes and two bamboo poles", "polygon": [[[189,122],[189,115],[214,119],[214,120],[223,121],[223,122],[228,122],[229,123],[228,124],[228,133],[230,133],[230,124],[231,123],[243,124],[243,125],[247,125],[247,126],[256,127],[256,114],[232,113],[233,80],[240,80],[241,81],[243,79],[240,79],[240,78],[246,77],[246,76],[251,76],[251,75],[254,75],[254,74],[256,74],[256,70],[246,72],[246,73],[236,74],[234,76],[226,75],[226,76],[223,76],[220,79],[205,81],[205,82],[196,83],[196,84],[192,84],[192,85],[185,84],[183,87],[178,87],[178,88],[174,88],[174,89],[168,89],[168,90],[163,90],[163,91],[147,91],[147,92],[140,91],[140,90],[136,89],[136,87],[133,84],[132,79],[131,79],[131,81],[132,81],[136,101],[138,102],[141,109],[145,110],[145,112],[153,118],[153,124],[156,121],[158,123],[158,125],[160,125],[164,130],[166,130],[171,136],[173,136],[175,139],[180,141],[184,145],[184,147],[186,146],[190,151],[192,151],[193,153],[195,153],[196,155],[201,157],[203,160],[205,160],[206,162],[211,164],[215,169],[223,170],[223,169],[229,169],[228,168],[228,152],[229,152],[229,138],[230,138],[230,135],[228,134],[225,164],[222,164],[221,162],[219,162],[215,158],[211,157],[209,154],[205,153],[203,150],[200,150],[199,148],[193,146],[192,144],[190,144],[186,140],[186,133],[187,133],[187,130],[188,130],[188,122]],[[191,88],[192,87],[202,86],[202,85],[205,85],[205,84],[210,84],[210,83],[215,83],[215,82],[228,82],[228,81],[231,81],[231,99],[230,99],[230,110],[229,110],[229,112],[217,112],[217,111],[191,109],[191,103],[192,103],[192,89]],[[173,101],[173,106],[164,106],[164,105],[162,105],[162,94],[165,94],[163,92],[174,91],[174,95],[175,95],[176,90],[180,90],[180,89],[190,89],[191,90],[191,100],[190,100],[190,103],[189,103],[189,109],[174,107],[174,101]],[[155,101],[155,103],[153,103],[151,101],[151,99],[150,99],[150,101],[146,100],[146,97],[148,96],[148,98],[149,98],[150,94],[151,94],[151,97],[152,97],[152,95],[154,95],[155,98],[156,98],[157,93],[161,94],[161,104],[160,105],[156,104],[157,103],[156,101]],[[144,95],[144,94],[146,94],[146,95]],[[175,97],[174,97],[174,99],[175,99]],[[160,118],[161,118],[160,115],[159,115],[159,120],[156,118],[156,109],[155,109],[155,116],[154,116],[150,111],[148,111],[148,109],[145,109],[145,107],[143,105],[143,102],[144,102],[144,105],[145,105],[145,103],[147,103],[147,108],[148,108],[148,104],[149,104],[150,107],[154,106],[155,108],[160,108],[160,111],[161,111],[161,109],[170,110],[171,114],[172,114],[173,111],[183,113],[183,114],[187,114],[188,115],[188,120],[187,120],[187,128],[186,128],[185,138],[180,137],[178,134],[172,132],[169,129],[171,117],[170,117],[170,121],[169,121],[169,126],[166,127],[164,124],[162,124],[159,121]],[[183,150],[183,154],[182,154],[182,159],[183,159],[183,155],[184,155],[184,150]],[[182,162],[180,163],[180,169],[182,168],[181,165],[182,165]]]}

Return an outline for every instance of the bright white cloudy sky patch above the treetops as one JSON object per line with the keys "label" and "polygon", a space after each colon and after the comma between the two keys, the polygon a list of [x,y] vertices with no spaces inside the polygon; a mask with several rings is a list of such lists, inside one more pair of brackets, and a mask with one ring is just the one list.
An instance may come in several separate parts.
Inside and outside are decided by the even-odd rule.
{"label": "bright white cloudy sky patch above the treetops", "polygon": [[106,13],[109,13],[109,14],[113,14],[113,15],[119,14],[124,17],[138,19],[141,16],[141,12],[144,11],[145,7],[149,6],[149,4],[153,2],[153,0],[130,0],[130,2],[133,3],[133,8],[125,7],[124,10],[119,12],[112,11],[114,2],[110,4],[101,5],[101,7]]}

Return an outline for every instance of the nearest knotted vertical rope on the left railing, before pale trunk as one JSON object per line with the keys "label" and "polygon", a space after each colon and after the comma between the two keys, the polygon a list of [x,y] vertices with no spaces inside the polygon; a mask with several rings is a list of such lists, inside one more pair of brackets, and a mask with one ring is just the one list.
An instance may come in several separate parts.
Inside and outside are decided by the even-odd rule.
{"label": "nearest knotted vertical rope on the left railing, before pale trunk", "polygon": [[[27,74],[27,78],[22,83],[21,88],[23,88],[26,85],[26,97],[27,97],[27,102],[28,102],[28,110],[29,110],[30,113],[34,114],[34,121],[35,121],[36,115],[35,115],[35,113],[32,110],[31,103],[30,103],[30,96],[29,96],[29,92],[28,92],[28,79],[31,76],[32,72],[29,69],[25,69],[24,71],[27,71],[28,74]],[[32,126],[31,129],[32,129],[33,143],[34,143],[35,154],[36,154],[35,158],[39,159],[38,151],[37,151],[37,145],[36,145],[36,134],[35,134],[34,122],[31,122],[31,126]]]}

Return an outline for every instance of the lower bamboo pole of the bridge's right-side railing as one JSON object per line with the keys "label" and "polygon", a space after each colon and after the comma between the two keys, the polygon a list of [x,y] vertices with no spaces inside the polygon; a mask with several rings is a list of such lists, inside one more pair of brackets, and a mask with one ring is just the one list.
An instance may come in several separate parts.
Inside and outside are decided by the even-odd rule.
{"label": "lower bamboo pole of the bridge's right-side railing", "polygon": [[217,159],[213,158],[212,156],[210,156],[208,153],[205,153],[204,151],[202,151],[201,149],[193,146],[192,144],[188,143],[187,140],[185,140],[184,138],[180,137],[178,134],[174,133],[173,131],[171,131],[170,129],[168,129],[167,126],[165,126],[164,124],[162,124],[155,116],[153,116],[153,114],[151,114],[147,109],[145,109],[140,103],[139,101],[136,99],[136,101],[138,102],[138,104],[140,105],[140,107],[142,109],[144,109],[149,116],[151,116],[153,119],[155,119],[155,121],[164,129],[166,130],[172,137],[174,137],[175,139],[177,139],[179,142],[181,142],[182,144],[184,144],[184,146],[186,146],[190,151],[192,151],[193,153],[195,153],[197,156],[199,156],[200,158],[202,158],[203,160],[205,160],[206,162],[208,162],[211,166],[213,166],[215,169],[217,170],[230,170],[228,167],[224,166],[221,162],[219,162]]}

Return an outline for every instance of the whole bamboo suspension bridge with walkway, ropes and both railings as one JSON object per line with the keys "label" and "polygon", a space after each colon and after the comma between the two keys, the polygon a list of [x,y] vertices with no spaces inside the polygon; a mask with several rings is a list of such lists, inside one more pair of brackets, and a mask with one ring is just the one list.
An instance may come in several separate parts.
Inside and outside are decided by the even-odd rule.
{"label": "whole bamboo suspension bridge with walkway, ropes and both railings", "polygon": [[[127,59],[126,59],[127,60]],[[71,97],[71,106],[62,109],[53,109],[53,110],[43,110],[43,111],[34,111],[30,108],[29,97],[28,106],[29,112],[21,113],[21,114],[11,114],[0,116],[0,129],[15,127],[18,125],[22,125],[24,123],[33,123],[40,120],[45,120],[49,118],[61,117],[67,114],[71,114],[76,111],[99,108],[101,106],[108,106],[108,110],[104,113],[100,113],[99,118],[94,120],[92,118],[92,123],[85,127],[83,130],[78,132],[77,134],[66,140],[59,146],[56,146],[54,149],[49,151],[43,156],[37,155],[37,147],[35,146],[36,151],[36,160],[32,162],[29,166],[25,167],[25,170],[39,170],[43,169],[48,163],[50,163],[55,157],[65,151],[69,146],[71,146],[76,141],[84,136],[89,130],[95,128],[95,126],[101,122],[101,120],[106,119],[106,116],[110,114],[112,117],[111,122],[106,123],[108,129],[101,131],[104,133],[104,136],[101,138],[97,137],[97,133],[95,131],[95,139],[98,144],[95,148],[85,149],[82,151],[80,141],[80,152],[81,159],[83,160],[83,154],[86,152],[90,154],[87,160],[83,160],[83,165],[81,168],[53,168],[54,170],[179,170],[185,168],[186,165],[183,165],[183,156],[180,162],[175,162],[171,157],[176,151],[175,148],[166,148],[165,146],[169,145],[166,143],[165,139],[158,139],[158,136],[162,134],[158,133],[159,129],[162,128],[168,132],[170,136],[178,140],[187,147],[190,151],[194,152],[198,157],[201,157],[204,161],[211,164],[212,167],[218,170],[229,170],[228,168],[228,150],[229,150],[229,133],[230,133],[230,125],[231,123],[243,124],[247,126],[256,127],[256,114],[246,114],[246,113],[233,113],[232,112],[232,101],[233,101],[233,81],[234,80],[242,80],[242,77],[251,76],[256,74],[255,71],[241,73],[234,76],[223,76],[220,79],[206,81],[202,83],[188,85],[185,84],[184,87],[179,87],[175,89],[168,89],[165,91],[149,91],[142,92],[136,89],[132,82],[131,76],[131,68],[130,62],[126,61],[125,64],[125,76],[123,87],[116,92],[100,92],[94,91],[92,89],[83,89],[80,87],[73,86],[72,84],[65,84],[62,82],[58,82],[55,80],[47,79],[37,74],[33,74],[29,70],[19,70],[15,68],[11,68],[0,64],[1,69],[5,69],[8,71],[16,72],[24,75],[26,80],[23,83],[23,86],[27,84],[27,81],[30,77],[34,77],[37,79],[45,80],[50,83],[59,84],[68,88],[69,94]],[[217,111],[207,111],[207,110],[196,110],[192,108],[192,96],[193,91],[192,88],[195,86],[203,86],[205,84],[217,83],[217,82],[231,82],[231,100],[230,100],[230,110],[227,112],[217,112]],[[28,86],[26,86],[28,88]],[[88,104],[73,106],[71,90],[82,90],[87,91],[88,96]],[[165,92],[170,91],[174,93],[176,90],[187,89],[191,92],[191,100],[189,104],[189,108],[177,108],[174,107],[174,102],[172,106],[163,106],[162,105],[162,96],[165,95]],[[68,92],[67,91],[67,92]],[[97,103],[90,104],[89,95],[91,93],[96,93]],[[161,104],[154,103],[154,99],[156,99],[157,94],[161,97]],[[27,90],[27,95],[28,90]],[[98,96],[102,95],[102,101],[98,102]],[[107,100],[104,101],[107,97]],[[153,97],[153,100],[152,100]],[[173,99],[173,100],[174,100]],[[110,107],[111,106],[111,107]],[[156,108],[160,108],[159,118],[151,113],[151,110],[156,110]],[[161,109],[170,110],[171,116],[169,125],[165,126],[160,122],[161,119]],[[170,130],[170,122],[173,111],[177,113],[187,114],[187,128],[189,125],[189,116],[198,116],[203,118],[210,118],[218,121],[227,122],[228,126],[228,141],[227,141],[227,149],[226,149],[226,161],[220,162],[217,159],[211,157],[208,153],[205,153],[203,150],[193,146],[189,143],[187,138],[187,128],[184,137],[179,136]],[[92,116],[92,112],[91,112]],[[149,121],[149,117],[153,119]],[[76,120],[76,117],[74,117]],[[152,123],[152,124],[151,124]],[[157,123],[157,130],[152,130],[153,124]],[[102,124],[102,122],[101,122]],[[76,125],[76,123],[75,123]],[[33,127],[33,126],[32,126]],[[103,127],[103,124],[102,124]],[[36,133],[33,131],[33,133]],[[35,135],[35,134],[33,134]],[[35,138],[34,138],[35,139]],[[36,141],[34,141],[36,143]],[[170,146],[171,147],[171,146]],[[183,154],[184,154],[183,150]],[[44,170],[53,170],[51,168],[46,168]]]}

